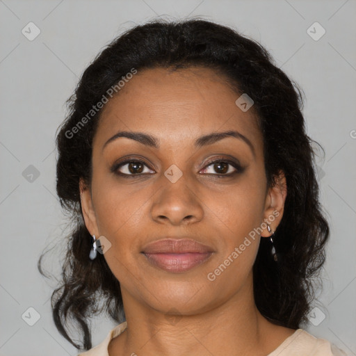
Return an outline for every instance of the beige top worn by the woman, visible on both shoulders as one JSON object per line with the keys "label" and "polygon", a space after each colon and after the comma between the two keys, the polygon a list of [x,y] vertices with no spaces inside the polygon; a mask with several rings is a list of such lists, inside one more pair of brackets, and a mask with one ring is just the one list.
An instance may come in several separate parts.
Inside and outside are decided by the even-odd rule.
{"label": "beige top worn by the woman, visible on both shoulders", "polygon": [[[115,326],[99,345],[77,356],[109,356],[108,344],[127,328],[127,322]],[[325,339],[318,339],[305,330],[297,329],[272,353],[266,356],[348,356]]]}

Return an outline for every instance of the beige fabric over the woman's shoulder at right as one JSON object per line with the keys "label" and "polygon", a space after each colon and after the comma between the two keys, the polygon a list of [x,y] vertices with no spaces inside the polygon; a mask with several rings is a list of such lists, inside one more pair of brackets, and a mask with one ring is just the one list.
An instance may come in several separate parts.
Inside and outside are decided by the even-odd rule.
{"label": "beige fabric over the woman's shoulder at right", "polygon": [[325,339],[314,337],[309,332],[298,329],[268,356],[348,356]]}

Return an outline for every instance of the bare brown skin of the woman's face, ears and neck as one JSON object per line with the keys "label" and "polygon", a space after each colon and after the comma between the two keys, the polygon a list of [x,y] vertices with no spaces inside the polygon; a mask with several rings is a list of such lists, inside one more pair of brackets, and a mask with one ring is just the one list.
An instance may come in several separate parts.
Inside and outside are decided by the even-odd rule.
{"label": "bare brown skin of the woman's face, ears and neck", "polygon": [[[254,304],[259,235],[216,280],[207,279],[273,211],[279,213],[269,224],[275,231],[286,198],[282,172],[278,186],[267,186],[261,131],[253,107],[243,112],[236,106],[239,96],[210,69],[156,68],[139,71],[104,106],[91,186],[81,181],[80,189],[88,231],[111,242],[104,258],[120,281],[127,317],[127,330],[109,344],[111,356],[266,356],[295,331],[270,323]],[[200,136],[228,130],[248,138],[254,152],[234,137],[194,147]],[[103,149],[118,131],[156,136],[159,148],[117,138]],[[124,156],[145,161],[143,175],[125,179],[111,172]],[[245,169],[219,178],[209,162],[221,156]],[[172,164],[183,174],[175,183],[164,175]],[[228,167],[227,173],[236,170]],[[127,164],[118,170],[130,174]],[[191,270],[169,273],[140,253],[166,236],[193,238],[214,253]]]}

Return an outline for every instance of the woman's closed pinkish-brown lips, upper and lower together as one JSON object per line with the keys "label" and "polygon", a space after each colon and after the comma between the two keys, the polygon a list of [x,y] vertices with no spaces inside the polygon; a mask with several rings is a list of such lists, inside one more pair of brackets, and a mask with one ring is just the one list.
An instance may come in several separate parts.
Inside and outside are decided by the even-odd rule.
{"label": "woman's closed pinkish-brown lips, upper and lower together", "polygon": [[147,261],[171,273],[181,273],[207,261],[214,250],[188,238],[165,238],[143,249]]}

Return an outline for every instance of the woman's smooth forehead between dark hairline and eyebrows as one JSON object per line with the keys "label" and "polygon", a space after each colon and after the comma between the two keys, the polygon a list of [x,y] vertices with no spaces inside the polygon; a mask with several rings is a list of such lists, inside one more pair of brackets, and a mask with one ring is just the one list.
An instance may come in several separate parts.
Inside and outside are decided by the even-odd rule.
{"label": "woman's smooth forehead between dark hairline and eyebrows", "polygon": [[261,145],[257,118],[243,112],[225,76],[204,67],[138,71],[104,106],[95,141],[117,131],[144,131],[173,144],[235,129]]}

